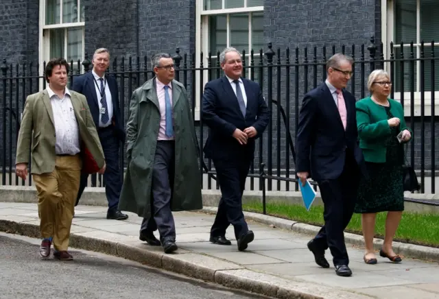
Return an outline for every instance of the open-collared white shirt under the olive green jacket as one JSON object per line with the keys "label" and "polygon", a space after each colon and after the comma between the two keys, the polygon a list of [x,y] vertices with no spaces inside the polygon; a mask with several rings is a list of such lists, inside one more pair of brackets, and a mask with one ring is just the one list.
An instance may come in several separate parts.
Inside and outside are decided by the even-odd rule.
{"label": "open-collared white shirt under the olive green jacket", "polygon": [[54,113],[56,134],[55,153],[75,155],[80,152],[80,128],[71,104],[71,93],[67,87],[62,99],[47,86],[50,104]]}

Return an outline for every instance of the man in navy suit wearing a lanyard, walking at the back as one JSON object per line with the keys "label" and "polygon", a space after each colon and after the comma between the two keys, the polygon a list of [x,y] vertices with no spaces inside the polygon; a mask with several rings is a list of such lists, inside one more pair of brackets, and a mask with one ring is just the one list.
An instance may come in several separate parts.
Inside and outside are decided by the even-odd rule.
{"label": "man in navy suit wearing a lanyard, walking at the back", "polygon": [[[119,146],[125,143],[125,130],[119,109],[119,91],[115,78],[105,75],[110,65],[108,49],[97,49],[92,62],[93,70],[75,78],[72,90],[86,96],[104,150],[107,165],[104,173],[105,193],[108,200],[107,219],[123,220],[127,219],[128,215],[117,209],[122,188],[121,171],[123,171],[119,168]],[[78,205],[87,180],[88,175],[82,174],[75,206]]]}

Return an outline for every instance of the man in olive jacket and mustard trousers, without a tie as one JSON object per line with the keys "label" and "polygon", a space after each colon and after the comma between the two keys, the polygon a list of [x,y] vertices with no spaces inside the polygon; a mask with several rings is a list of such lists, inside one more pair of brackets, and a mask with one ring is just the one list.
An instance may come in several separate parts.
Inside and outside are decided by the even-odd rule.
{"label": "man in olive jacket and mustard trousers, without a tie", "polygon": [[32,153],[30,172],[38,193],[43,237],[40,255],[49,257],[53,241],[54,256],[62,261],[73,259],[67,248],[80,184],[82,146],[95,159],[99,173],[105,170],[104,153],[86,98],[67,89],[68,73],[66,60],[47,62],[49,86],[27,97],[16,147],[16,174],[24,180],[29,148]]}

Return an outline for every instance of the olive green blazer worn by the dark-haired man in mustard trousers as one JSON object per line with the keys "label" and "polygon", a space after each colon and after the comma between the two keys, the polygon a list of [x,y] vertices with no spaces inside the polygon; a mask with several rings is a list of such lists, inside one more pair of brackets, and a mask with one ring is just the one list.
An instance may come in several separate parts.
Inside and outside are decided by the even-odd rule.
{"label": "olive green blazer worn by the dark-haired man in mustard trousers", "polygon": [[[69,90],[70,91],[70,90]],[[71,104],[75,112],[82,143],[87,147],[99,168],[105,163],[102,145],[97,135],[84,95],[70,91]],[[31,147],[32,143],[32,147]],[[55,169],[55,126],[54,112],[46,90],[29,95],[23,110],[23,119],[16,145],[15,163],[29,164],[29,148],[32,154],[32,174],[51,173]]]}

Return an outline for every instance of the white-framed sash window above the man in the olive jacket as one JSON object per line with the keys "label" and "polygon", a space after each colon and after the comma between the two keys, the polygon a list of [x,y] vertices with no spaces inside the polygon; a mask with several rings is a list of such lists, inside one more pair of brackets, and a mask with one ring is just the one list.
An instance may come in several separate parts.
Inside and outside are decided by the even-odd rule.
{"label": "white-framed sash window above the man in the olive jacket", "polygon": [[84,5],[81,0],[40,0],[40,61],[84,59]]}

